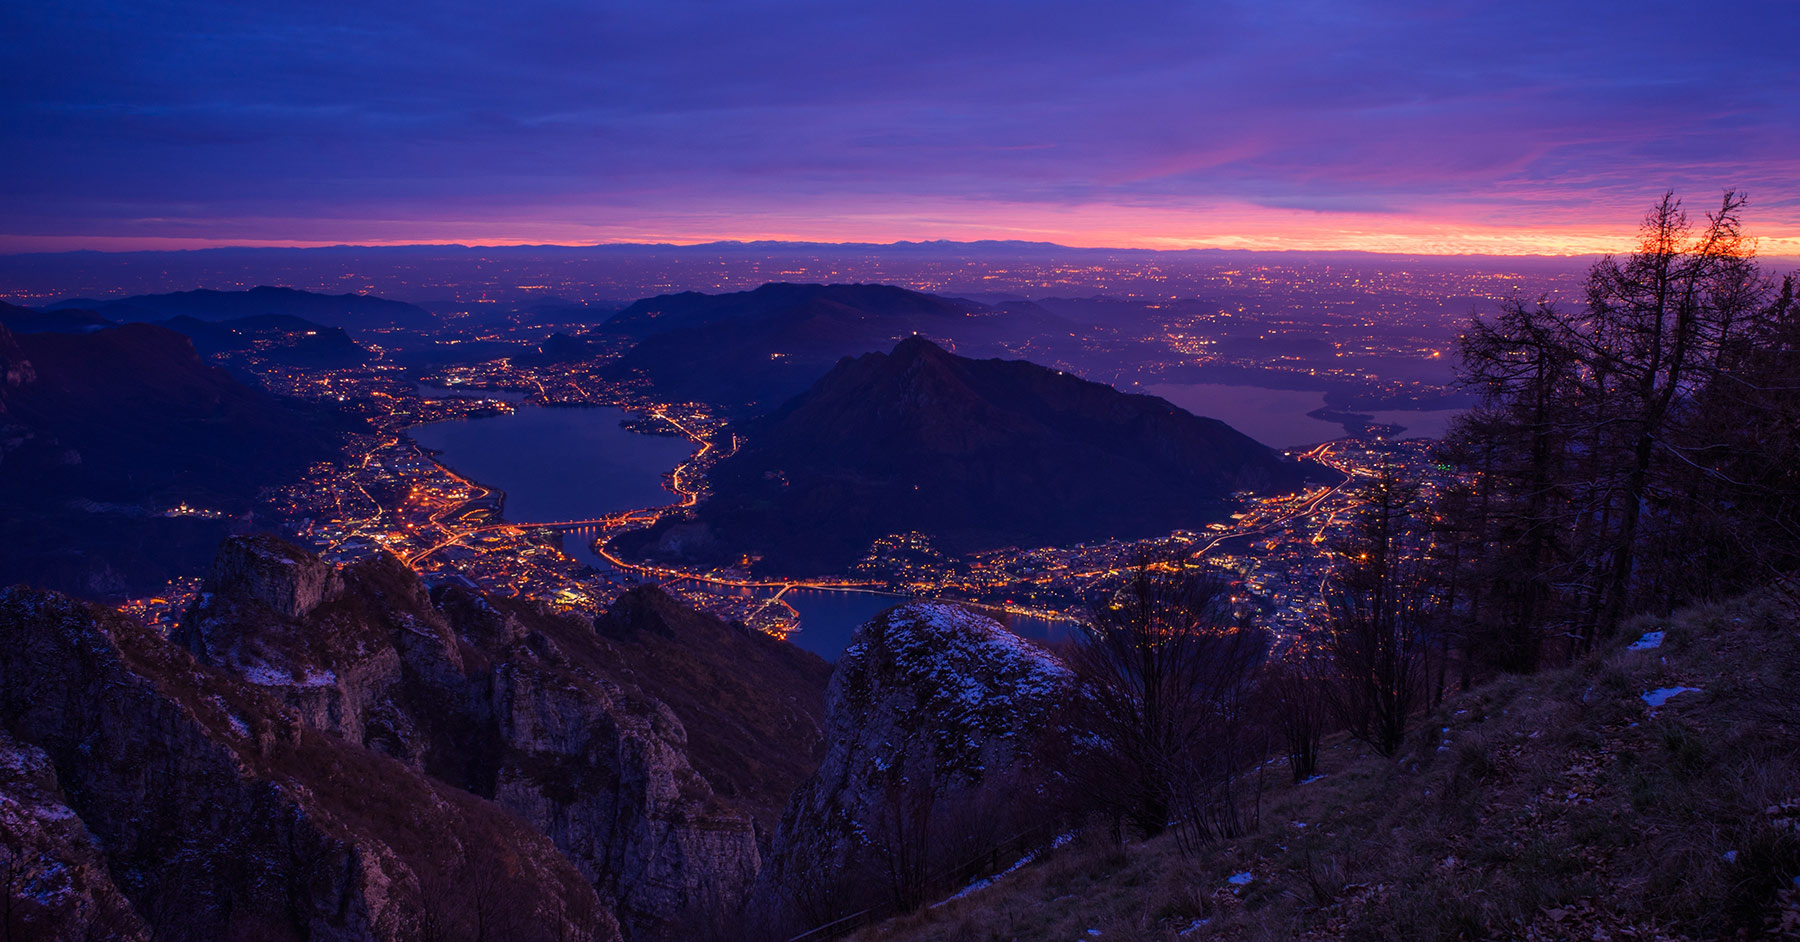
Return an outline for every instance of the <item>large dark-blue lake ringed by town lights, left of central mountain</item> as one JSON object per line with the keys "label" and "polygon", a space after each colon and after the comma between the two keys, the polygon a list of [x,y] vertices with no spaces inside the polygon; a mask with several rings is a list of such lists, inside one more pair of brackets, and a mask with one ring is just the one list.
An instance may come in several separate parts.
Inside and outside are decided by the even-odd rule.
{"label": "large dark-blue lake ringed by town lights, left of central mountain", "polygon": [[610,407],[526,407],[409,434],[464,477],[504,490],[508,521],[589,521],[675,503],[662,476],[693,454],[686,438],[621,429],[625,418]]}

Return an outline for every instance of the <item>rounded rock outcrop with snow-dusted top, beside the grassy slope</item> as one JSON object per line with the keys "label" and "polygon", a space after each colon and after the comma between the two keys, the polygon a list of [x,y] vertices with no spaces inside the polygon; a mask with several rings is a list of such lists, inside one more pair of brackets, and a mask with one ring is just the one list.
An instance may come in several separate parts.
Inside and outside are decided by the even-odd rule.
{"label": "rounded rock outcrop with snow-dusted top, beside the grassy slope", "polygon": [[1030,773],[1071,690],[1057,657],[965,609],[869,620],[832,674],[824,762],[781,820],[765,893],[819,919],[857,892],[844,875],[880,884],[931,845],[1003,838],[1019,821],[1001,803],[1044,787]]}

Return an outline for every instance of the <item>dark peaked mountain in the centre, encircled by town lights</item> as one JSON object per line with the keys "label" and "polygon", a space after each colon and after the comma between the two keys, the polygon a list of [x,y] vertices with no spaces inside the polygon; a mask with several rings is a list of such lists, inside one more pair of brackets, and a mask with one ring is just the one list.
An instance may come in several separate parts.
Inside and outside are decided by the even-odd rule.
{"label": "dark peaked mountain in the centre, encircled by town lights", "polygon": [[743,430],[747,445],[718,465],[691,519],[619,548],[830,573],[877,537],[913,530],[970,551],[1199,528],[1228,513],[1235,490],[1307,477],[1161,398],[1022,360],[970,360],[916,337],[844,358]]}

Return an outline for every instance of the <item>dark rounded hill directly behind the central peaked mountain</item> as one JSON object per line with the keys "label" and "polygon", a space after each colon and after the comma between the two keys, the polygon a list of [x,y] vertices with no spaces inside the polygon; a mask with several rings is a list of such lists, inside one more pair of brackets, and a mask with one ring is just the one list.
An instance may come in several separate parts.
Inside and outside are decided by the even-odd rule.
{"label": "dark rounded hill directly behind the central peaked mountain", "polygon": [[635,375],[668,398],[758,412],[799,394],[839,358],[904,337],[1010,355],[1033,337],[1067,339],[1071,324],[1031,303],[981,304],[891,285],[772,283],[648,297],[599,330],[637,340],[608,367],[612,378]]}

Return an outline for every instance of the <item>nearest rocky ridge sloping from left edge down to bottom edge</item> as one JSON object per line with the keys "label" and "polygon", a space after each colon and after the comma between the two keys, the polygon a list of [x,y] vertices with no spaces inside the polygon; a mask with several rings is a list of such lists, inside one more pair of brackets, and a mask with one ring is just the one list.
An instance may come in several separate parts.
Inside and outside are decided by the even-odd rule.
{"label": "nearest rocky ridge sloping from left edge down to bottom edge", "polygon": [[511,814],[112,612],[0,591],[0,708],[158,938],[617,938],[589,881]]}

